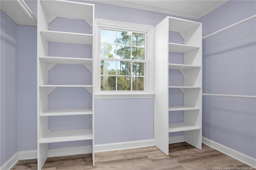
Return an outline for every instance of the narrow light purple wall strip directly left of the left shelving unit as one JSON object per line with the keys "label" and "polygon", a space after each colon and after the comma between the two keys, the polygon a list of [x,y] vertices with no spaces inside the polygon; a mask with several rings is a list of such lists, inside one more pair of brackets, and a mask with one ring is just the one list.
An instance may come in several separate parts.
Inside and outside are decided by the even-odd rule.
{"label": "narrow light purple wall strip directly left of the left shelving unit", "polygon": [[36,32],[34,26],[18,26],[18,151],[37,147]]}

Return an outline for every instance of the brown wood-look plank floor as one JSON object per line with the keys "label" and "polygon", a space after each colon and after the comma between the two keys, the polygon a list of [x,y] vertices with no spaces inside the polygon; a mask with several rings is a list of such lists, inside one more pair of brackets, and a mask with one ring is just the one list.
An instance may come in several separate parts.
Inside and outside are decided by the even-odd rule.
{"label": "brown wood-look plank floor", "polygon": [[[202,144],[202,150],[182,142],[169,145],[170,156],[155,146],[48,158],[42,170],[213,170],[253,169],[218,150]],[[20,160],[12,170],[37,170],[37,160]]]}

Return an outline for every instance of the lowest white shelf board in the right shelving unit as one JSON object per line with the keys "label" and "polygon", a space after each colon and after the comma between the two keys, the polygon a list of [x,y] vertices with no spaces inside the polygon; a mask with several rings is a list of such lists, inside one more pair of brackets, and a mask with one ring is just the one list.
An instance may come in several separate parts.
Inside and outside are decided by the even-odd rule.
{"label": "lowest white shelf board in the right shelving unit", "polygon": [[181,132],[181,131],[197,130],[197,129],[201,129],[201,128],[198,126],[189,125],[184,122],[169,123],[169,132]]}

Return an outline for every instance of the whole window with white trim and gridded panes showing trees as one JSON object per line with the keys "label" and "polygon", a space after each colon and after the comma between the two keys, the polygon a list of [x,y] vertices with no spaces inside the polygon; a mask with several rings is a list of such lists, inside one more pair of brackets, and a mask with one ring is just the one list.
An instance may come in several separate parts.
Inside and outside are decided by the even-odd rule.
{"label": "whole window with white trim and gridded panes showing trees", "polygon": [[96,95],[152,95],[154,26],[101,19],[96,24]]}

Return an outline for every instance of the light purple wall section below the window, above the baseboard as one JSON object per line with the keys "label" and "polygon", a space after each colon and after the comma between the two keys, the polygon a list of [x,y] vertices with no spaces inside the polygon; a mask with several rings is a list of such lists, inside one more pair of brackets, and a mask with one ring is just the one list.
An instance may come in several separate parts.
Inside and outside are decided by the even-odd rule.
{"label": "light purple wall section below the window, above the baseboard", "polygon": [[153,139],[153,103],[154,99],[96,99],[95,144]]}

